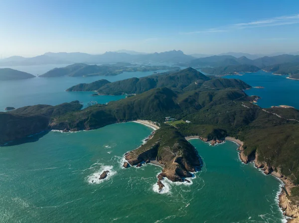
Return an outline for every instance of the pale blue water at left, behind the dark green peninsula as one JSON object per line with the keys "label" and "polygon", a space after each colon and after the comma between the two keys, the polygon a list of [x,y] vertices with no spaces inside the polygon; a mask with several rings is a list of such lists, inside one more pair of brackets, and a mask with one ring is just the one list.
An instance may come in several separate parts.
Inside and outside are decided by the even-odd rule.
{"label": "pale blue water at left, behind the dark green peninsula", "polygon": [[[57,66],[57,65],[52,65]],[[22,66],[25,69],[34,70],[36,66]],[[13,69],[16,69],[12,67]],[[39,69],[48,69],[48,66]],[[165,71],[158,71],[165,72]],[[99,79],[107,79],[111,82],[131,77],[142,77],[153,72],[124,72],[116,76],[92,76],[92,77],[35,77],[24,80],[0,81],[0,111],[5,107],[23,107],[35,104],[57,105],[64,102],[79,100],[85,105],[89,101],[97,101],[105,104],[112,100],[125,98],[125,95],[91,96],[93,92],[66,92],[65,90],[78,83],[90,83]]]}

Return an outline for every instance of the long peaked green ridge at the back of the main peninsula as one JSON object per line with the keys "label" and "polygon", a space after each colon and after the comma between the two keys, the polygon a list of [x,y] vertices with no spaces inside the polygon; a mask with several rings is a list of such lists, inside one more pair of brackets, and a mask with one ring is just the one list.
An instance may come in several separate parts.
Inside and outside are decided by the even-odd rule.
{"label": "long peaked green ridge at the back of the main peninsula", "polygon": [[[96,82],[90,83],[89,90],[97,90],[99,94],[139,94],[147,90],[158,88],[158,87],[167,87],[175,91],[183,91],[187,89],[197,89],[202,85],[215,88],[228,86],[230,83],[234,82],[234,79],[220,79],[208,77],[195,69],[187,68],[178,72],[170,72],[164,74],[154,74],[146,77],[133,77],[125,80],[119,80],[112,83],[101,84],[98,87]],[[238,84],[234,82],[232,86],[238,87],[240,89],[250,88],[248,84],[243,81],[239,81]],[[79,86],[75,85],[67,90],[79,89]],[[216,86],[217,85],[217,86]],[[84,90],[83,88],[81,88]]]}

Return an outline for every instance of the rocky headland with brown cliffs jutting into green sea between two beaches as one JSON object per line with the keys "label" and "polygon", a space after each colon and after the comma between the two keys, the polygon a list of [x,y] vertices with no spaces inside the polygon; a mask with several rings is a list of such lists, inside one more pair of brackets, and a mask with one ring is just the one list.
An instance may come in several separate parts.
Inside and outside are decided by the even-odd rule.
{"label": "rocky headland with brown cliffs jutting into green sea between two beaches", "polygon": [[183,182],[201,165],[195,148],[172,126],[162,126],[146,144],[125,156],[131,165],[155,160],[164,166],[158,176],[158,185],[163,177]]}

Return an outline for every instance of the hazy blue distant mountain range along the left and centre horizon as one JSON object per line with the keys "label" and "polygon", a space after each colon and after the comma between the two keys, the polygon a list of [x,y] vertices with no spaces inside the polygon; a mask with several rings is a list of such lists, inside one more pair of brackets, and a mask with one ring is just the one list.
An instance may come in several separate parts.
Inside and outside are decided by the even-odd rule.
{"label": "hazy blue distant mountain range along the left and centre horizon", "polygon": [[[126,51],[126,50],[122,50]],[[135,51],[124,52],[106,52],[100,55],[91,55],[86,53],[45,53],[32,58],[13,56],[0,60],[0,66],[30,66],[44,64],[110,64],[118,62],[126,63],[186,63],[194,57],[185,55],[182,51],[173,50],[162,53],[138,54]],[[130,53],[130,54],[129,54]]]}

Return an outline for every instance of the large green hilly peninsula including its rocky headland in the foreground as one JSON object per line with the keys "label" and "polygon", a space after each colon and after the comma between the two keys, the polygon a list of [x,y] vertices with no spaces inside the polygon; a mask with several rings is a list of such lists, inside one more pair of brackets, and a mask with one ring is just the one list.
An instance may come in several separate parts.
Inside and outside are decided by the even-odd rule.
{"label": "large green hilly peninsula including its rocky headland in the foreground", "polygon": [[[298,188],[299,110],[261,108],[252,103],[257,96],[248,96],[243,91],[250,87],[242,80],[206,76],[192,68],[107,82],[97,89],[99,93],[136,95],[83,110],[78,102],[73,102],[71,109],[65,109],[70,106],[66,103],[49,107],[49,112],[28,106],[0,113],[0,143],[46,130],[91,130],[113,123],[150,120],[160,123],[160,128],[145,145],[125,156],[131,165],[151,160],[163,165],[157,179],[160,189],[163,177],[185,181],[200,167],[200,154],[186,141],[188,136],[213,143],[225,137],[238,139],[243,142],[242,160],[256,161],[266,173],[278,173],[281,179]],[[53,107],[54,114],[50,112]],[[184,121],[172,127],[164,123],[165,117]],[[286,215],[290,209],[298,210],[299,199],[294,194],[289,194],[295,203],[284,210]]]}

